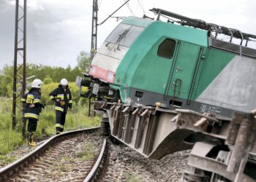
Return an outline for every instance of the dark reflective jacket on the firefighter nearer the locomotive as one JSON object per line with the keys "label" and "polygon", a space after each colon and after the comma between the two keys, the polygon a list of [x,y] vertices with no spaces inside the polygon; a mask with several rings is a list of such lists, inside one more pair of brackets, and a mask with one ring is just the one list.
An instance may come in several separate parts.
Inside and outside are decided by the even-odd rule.
{"label": "dark reflective jacket on the firefighter nearer the locomotive", "polygon": [[[56,111],[67,112],[68,107],[72,108],[72,95],[68,85],[65,91],[60,84],[59,87],[53,90],[53,92],[50,92],[49,95],[50,95],[50,99],[55,101]],[[65,102],[64,106],[61,106],[61,102],[57,100],[64,101]]]}

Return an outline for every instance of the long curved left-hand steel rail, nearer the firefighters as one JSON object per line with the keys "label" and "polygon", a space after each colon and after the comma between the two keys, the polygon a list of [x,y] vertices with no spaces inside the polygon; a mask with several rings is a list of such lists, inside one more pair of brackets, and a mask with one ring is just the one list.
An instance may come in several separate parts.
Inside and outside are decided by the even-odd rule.
{"label": "long curved left-hand steel rail, nearer the firefighters", "polygon": [[34,149],[34,151],[31,151],[29,154],[26,154],[26,156],[16,160],[15,162],[12,162],[10,165],[7,165],[6,167],[3,167],[0,169],[0,181],[7,180],[7,178],[18,172],[18,170],[23,169],[26,165],[29,165],[30,162],[33,162],[35,159],[37,159],[39,156],[45,153],[50,146],[53,146],[54,143],[60,141],[61,139],[67,138],[70,135],[75,135],[81,132],[84,133],[91,133],[96,132],[100,129],[100,127],[92,127],[87,128],[83,130],[74,130],[70,132],[64,132],[59,135],[54,135],[53,137],[49,138],[45,143],[43,143],[41,146],[39,146],[37,149]]}

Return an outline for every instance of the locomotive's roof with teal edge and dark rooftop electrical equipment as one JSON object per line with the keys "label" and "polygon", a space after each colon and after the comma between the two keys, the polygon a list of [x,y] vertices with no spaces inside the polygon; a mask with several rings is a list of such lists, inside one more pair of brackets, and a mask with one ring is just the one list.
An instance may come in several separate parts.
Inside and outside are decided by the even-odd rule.
{"label": "locomotive's roof with teal edge and dark rooftop electrical equipment", "polygon": [[[157,11],[165,11],[165,10],[154,9],[154,12],[157,12]],[[256,50],[252,47],[247,47],[248,41],[255,41],[256,39],[255,35],[252,35],[249,33],[242,33],[241,31],[238,31],[232,28],[225,28],[223,26],[218,26],[213,23],[205,23],[202,20],[195,20],[189,17],[184,17],[181,15],[174,14],[172,12],[165,11],[165,15],[167,15],[168,13],[170,13],[170,15],[175,16],[176,18],[179,17],[182,20],[181,23],[179,23],[180,25],[177,25],[174,22],[170,22],[170,21],[169,23],[159,21],[159,17],[157,18],[158,20],[151,20],[151,19],[140,18],[140,17],[127,17],[122,21],[122,23],[142,26],[145,28],[151,24],[154,25],[157,23],[158,28],[162,27],[161,28],[161,31],[163,31],[162,33],[166,31],[165,29],[169,29],[169,28],[173,29],[173,31],[176,31],[177,33],[175,34],[172,33],[173,38],[189,41],[193,44],[200,44],[202,46],[206,46],[206,47],[208,46],[215,49],[232,52],[232,53],[235,53],[236,55],[243,55],[249,58],[256,58]],[[169,25],[169,26],[166,26],[166,25]],[[215,29],[209,28],[211,27],[211,25],[214,25]],[[213,31],[216,33],[215,37],[212,36],[210,33]],[[219,33],[229,35],[230,41],[222,41],[222,39],[217,39],[217,34]],[[170,32],[167,34],[170,34]],[[232,42],[233,37],[237,39],[241,39],[241,44],[234,44]],[[245,46],[242,45],[244,40],[246,40]]]}

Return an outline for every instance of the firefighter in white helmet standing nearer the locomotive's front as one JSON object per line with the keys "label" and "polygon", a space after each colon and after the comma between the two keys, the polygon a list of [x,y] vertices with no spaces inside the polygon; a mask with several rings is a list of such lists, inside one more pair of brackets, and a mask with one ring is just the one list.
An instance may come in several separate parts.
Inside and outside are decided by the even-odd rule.
{"label": "firefighter in white helmet standing nearer the locomotive's front", "polygon": [[50,99],[55,102],[56,110],[56,135],[64,130],[67,108],[72,108],[72,95],[67,84],[67,79],[61,79],[59,87],[50,92]]}

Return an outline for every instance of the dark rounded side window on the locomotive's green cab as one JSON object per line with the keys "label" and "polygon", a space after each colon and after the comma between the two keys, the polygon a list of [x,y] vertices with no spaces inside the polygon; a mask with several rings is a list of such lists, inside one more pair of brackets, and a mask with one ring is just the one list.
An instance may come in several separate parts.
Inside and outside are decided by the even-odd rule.
{"label": "dark rounded side window on the locomotive's green cab", "polygon": [[171,59],[175,50],[176,41],[173,39],[165,39],[159,45],[157,55],[162,58]]}

